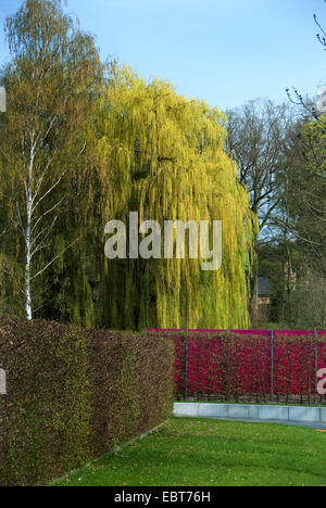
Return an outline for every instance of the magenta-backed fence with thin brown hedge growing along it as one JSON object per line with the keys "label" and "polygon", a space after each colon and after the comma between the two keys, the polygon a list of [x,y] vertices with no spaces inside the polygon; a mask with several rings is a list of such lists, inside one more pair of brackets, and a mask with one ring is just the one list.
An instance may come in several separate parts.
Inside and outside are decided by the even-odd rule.
{"label": "magenta-backed fence with thin brown hedge growing along it", "polygon": [[326,332],[149,330],[174,342],[178,399],[326,404]]}

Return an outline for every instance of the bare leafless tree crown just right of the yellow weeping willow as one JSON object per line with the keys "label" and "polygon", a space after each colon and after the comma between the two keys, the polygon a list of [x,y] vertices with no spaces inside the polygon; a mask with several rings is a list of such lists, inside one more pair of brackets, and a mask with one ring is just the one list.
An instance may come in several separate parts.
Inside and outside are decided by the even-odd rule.
{"label": "bare leafless tree crown just right of the yellow weeping willow", "polygon": [[238,178],[250,194],[250,206],[262,232],[279,204],[278,174],[291,124],[287,105],[256,100],[228,111],[227,151],[238,166]]}

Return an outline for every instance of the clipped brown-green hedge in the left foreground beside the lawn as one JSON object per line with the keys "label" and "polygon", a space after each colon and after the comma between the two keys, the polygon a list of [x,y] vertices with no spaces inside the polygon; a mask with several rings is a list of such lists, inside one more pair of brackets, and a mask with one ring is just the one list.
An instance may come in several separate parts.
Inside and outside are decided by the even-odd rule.
{"label": "clipped brown-green hedge in the left foreground beside the lawn", "polygon": [[161,338],[0,318],[0,485],[40,485],[137,437],[173,408]]}

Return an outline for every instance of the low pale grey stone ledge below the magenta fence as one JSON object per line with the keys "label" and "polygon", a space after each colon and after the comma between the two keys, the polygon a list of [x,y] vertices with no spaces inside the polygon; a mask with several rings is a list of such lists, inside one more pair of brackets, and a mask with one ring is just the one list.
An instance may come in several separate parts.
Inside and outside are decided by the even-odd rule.
{"label": "low pale grey stone ledge below the magenta fence", "polygon": [[326,407],[175,403],[174,416],[326,427]]}

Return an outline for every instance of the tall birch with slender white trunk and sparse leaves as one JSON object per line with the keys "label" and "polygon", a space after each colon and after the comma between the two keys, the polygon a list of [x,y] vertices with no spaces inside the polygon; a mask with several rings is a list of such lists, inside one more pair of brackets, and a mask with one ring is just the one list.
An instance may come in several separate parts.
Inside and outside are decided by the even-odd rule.
{"label": "tall birch with slender white trunk and sparse leaves", "polygon": [[63,14],[59,0],[26,0],[7,20],[5,33],[12,61],[3,73],[2,220],[20,237],[20,292],[30,320],[37,279],[78,241],[67,238],[62,251],[51,255],[72,182],[80,178],[101,65],[92,37]]}

